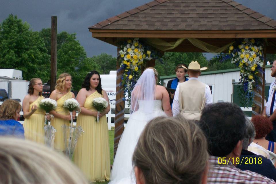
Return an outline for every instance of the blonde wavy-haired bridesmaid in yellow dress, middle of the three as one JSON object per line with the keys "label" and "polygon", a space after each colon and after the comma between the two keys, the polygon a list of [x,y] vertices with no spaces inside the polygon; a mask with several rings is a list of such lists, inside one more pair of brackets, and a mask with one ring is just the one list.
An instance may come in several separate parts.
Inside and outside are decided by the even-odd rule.
{"label": "blonde wavy-haired bridesmaid in yellow dress, middle of the three", "polygon": [[[54,148],[58,151],[65,151],[64,148],[64,136],[62,125],[70,125],[71,116],[68,110],[63,108],[64,101],[70,98],[75,98],[72,89],[72,78],[68,73],[60,74],[57,79],[55,90],[51,93],[50,98],[57,101],[57,108],[51,111],[54,118],[51,120],[51,124],[57,130],[55,133]],[[75,119],[76,112],[73,112],[73,119]]]}

